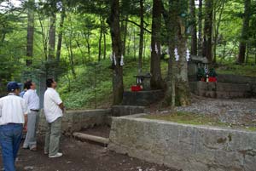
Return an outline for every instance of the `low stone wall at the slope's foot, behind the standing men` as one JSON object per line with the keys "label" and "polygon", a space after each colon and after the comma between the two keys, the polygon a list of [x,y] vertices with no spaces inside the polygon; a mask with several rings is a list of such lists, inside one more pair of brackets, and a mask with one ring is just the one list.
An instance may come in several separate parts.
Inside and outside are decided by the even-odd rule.
{"label": "low stone wall at the slope's foot, behind the standing men", "polygon": [[[101,125],[108,122],[110,109],[86,110],[86,111],[67,111],[62,118],[61,130],[63,134],[72,134],[83,128],[90,128],[95,125]],[[44,117],[44,111],[40,113],[38,130],[44,134],[47,123]]]}

